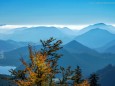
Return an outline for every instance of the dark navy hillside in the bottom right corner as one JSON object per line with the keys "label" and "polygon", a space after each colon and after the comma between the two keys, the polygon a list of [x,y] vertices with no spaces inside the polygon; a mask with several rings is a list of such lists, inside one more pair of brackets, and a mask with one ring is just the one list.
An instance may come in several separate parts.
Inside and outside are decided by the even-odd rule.
{"label": "dark navy hillside in the bottom right corner", "polygon": [[101,86],[115,86],[115,66],[108,65],[97,71]]}

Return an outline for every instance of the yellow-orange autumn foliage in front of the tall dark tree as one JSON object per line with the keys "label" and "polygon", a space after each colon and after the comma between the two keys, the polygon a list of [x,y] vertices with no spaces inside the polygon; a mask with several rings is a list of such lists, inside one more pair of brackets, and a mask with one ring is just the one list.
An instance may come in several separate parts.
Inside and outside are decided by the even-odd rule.
{"label": "yellow-orange autumn foliage in front of the tall dark tree", "polygon": [[48,83],[48,77],[51,74],[50,62],[46,62],[47,55],[43,55],[39,52],[32,53],[30,50],[30,59],[32,61],[31,66],[29,66],[25,61],[22,61],[26,67],[25,71],[27,79],[17,80],[17,84],[19,86],[36,86],[36,84],[46,86]]}

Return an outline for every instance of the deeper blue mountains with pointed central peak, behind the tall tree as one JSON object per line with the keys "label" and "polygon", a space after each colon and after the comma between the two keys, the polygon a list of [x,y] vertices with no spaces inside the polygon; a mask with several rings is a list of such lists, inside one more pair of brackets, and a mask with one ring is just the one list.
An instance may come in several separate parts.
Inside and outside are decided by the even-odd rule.
{"label": "deeper blue mountains with pointed central peak, behind the tall tree", "polygon": [[[36,50],[39,50],[41,48],[40,45],[34,47]],[[97,53],[96,51],[85,47],[84,45],[76,41],[71,41],[70,43],[66,44],[65,46],[63,46],[63,49],[58,51],[58,53],[63,54],[63,56],[59,60],[59,65],[64,67],[70,65],[73,68],[79,65],[83,69],[83,73],[85,74],[85,76],[90,74],[91,72],[103,68],[109,63],[114,64],[115,60],[114,54]],[[9,52],[4,52],[4,58],[0,59],[0,65],[18,67],[19,65],[21,65],[19,59],[23,57],[26,61],[29,61],[28,56],[28,47],[22,47]]]}

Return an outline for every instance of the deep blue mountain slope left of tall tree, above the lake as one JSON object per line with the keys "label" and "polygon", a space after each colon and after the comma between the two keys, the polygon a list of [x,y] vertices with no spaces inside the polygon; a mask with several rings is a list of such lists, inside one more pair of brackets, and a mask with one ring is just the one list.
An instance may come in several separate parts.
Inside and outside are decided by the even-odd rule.
{"label": "deep blue mountain slope left of tall tree, above the lake", "polygon": [[[33,50],[41,49],[41,45],[33,46]],[[4,58],[0,59],[0,65],[3,66],[19,66],[21,64],[20,58],[29,60],[28,46],[17,48],[11,51],[4,52]]]}

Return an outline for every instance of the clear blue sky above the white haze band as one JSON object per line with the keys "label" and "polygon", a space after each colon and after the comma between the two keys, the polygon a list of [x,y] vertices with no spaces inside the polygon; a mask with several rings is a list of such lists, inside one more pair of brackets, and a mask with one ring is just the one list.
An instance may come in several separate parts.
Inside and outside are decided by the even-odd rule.
{"label": "clear blue sky above the white haze band", "polygon": [[115,0],[0,0],[0,24],[115,24]]}

